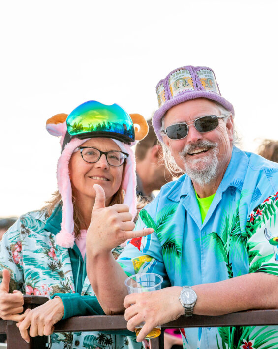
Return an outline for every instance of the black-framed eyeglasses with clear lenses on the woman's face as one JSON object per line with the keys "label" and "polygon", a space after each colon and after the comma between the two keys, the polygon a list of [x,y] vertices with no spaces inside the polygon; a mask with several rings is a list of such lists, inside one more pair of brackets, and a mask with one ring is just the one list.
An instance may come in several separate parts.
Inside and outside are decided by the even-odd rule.
{"label": "black-framed eyeglasses with clear lenses on the woman's face", "polygon": [[106,161],[110,166],[121,166],[128,157],[127,153],[118,150],[101,151],[92,146],[79,146],[78,149],[80,150],[82,159],[91,164],[97,162],[102,154],[105,155]]}

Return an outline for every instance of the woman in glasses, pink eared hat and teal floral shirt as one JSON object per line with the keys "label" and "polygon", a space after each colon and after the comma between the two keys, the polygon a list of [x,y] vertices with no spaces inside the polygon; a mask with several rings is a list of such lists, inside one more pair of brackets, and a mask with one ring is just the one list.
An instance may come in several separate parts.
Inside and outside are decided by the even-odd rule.
{"label": "woman in glasses, pink eared hat and teal floral shirt", "polygon": [[[137,199],[135,160],[130,144],[148,132],[145,119],[133,116],[136,121],[116,104],[106,106],[88,101],[68,116],[59,114],[47,121],[48,132],[62,136],[58,192],[44,209],[21,216],[0,245],[3,276],[0,317],[24,319],[18,327],[27,342],[30,325],[30,336],[50,335],[53,325],[62,317],[92,314],[95,309],[95,314],[103,314],[95,297],[91,297],[94,292],[86,273],[85,241],[95,202],[93,185],[103,188],[105,205],[113,207],[112,210],[120,209],[126,228],[132,230]],[[115,258],[122,248],[113,251]],[[8,294],[9,291],[14,293]],[[22,293],[53,299],[20,315]],[[72,348],[72,345],[114,348],[116,343],[119,348],[137,345],[132,338],[99,332],[52,335],[53,349]]]}

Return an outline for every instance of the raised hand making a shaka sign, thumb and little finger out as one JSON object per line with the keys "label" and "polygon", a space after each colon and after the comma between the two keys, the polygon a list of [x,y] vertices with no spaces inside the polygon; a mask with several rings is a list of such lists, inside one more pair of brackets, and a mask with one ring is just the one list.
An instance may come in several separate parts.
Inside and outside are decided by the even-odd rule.
{"label": "raised hand making a shaka sign, thumb and little finger out", "polygon": [[126,204],[105,207],[106,198],[103,188],[98,184],[93,188],[96,194],[86,237],[87,250],[108,252],[128,239],[154,232],[153,228],[133,231],[135,224],[132,222],[129,207]]}

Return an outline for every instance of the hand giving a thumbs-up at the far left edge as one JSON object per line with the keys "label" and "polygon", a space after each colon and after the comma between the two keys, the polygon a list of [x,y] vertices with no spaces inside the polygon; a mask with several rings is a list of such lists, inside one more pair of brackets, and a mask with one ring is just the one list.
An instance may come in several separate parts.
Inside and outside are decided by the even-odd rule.
{"label": "hand giving a thumbs-up at the far left edge", "polygon": [[24,315],[23,312],[23,294],[14,290],[10,291],[10,272],[3,269],[3,278],[0,284],[0,317],[3,320],[21,321]]}

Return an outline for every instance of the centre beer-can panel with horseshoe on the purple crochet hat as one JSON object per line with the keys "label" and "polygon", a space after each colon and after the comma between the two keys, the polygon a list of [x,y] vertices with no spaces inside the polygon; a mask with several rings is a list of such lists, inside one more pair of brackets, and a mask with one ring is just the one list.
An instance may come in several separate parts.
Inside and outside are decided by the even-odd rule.
{"label": "centre beer-can panel with horseshoe on the purple crochet hat", "polygon": [[180,69],[171,74],[169,77],[169,87],[173,97],[184,91],[194,91],[190,71]]}

